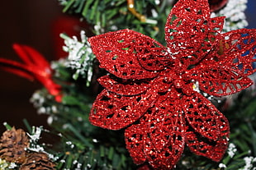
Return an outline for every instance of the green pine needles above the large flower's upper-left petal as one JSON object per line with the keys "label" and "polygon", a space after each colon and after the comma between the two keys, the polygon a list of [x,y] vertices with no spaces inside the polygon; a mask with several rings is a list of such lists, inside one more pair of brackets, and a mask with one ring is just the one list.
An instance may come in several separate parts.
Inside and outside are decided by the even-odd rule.
{"label": "green pine needles above the large flower's upper-left petal", "polygon": [[109,31],[132,29],[159,40],[164,44],[164,25],[171,9],[168,0],[157,4],[155,0],[135,1],[135,10],[146,16],[140,21],[127,7],[126,0],[59,0],[63,11],[83,17],[94,34]]}

